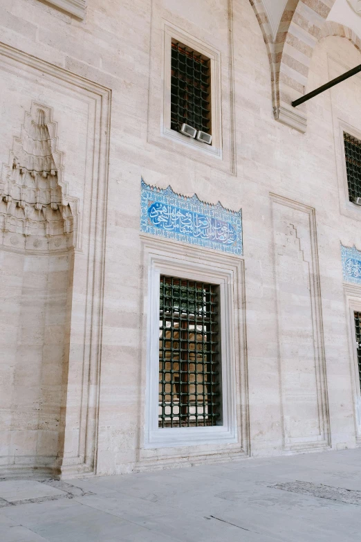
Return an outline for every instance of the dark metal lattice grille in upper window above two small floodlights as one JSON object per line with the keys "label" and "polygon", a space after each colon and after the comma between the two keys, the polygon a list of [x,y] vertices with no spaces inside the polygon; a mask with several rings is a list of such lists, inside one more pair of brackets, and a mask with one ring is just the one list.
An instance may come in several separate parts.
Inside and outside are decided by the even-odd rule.
{"label": "dark metal lattice grille in upper window above two small floodlights", "polygon": [[185,123],[210,134],[210,60],[172,43],[171,84],[171,128],[179,132]]}

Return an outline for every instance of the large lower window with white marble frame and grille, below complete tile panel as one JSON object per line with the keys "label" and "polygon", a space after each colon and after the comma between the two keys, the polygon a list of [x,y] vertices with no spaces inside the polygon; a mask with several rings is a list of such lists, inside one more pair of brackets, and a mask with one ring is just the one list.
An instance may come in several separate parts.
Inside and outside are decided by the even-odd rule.
{"label": "large lower window with white marble frame and grille, below complete tile panel", "polygon": [[[158,239],[145,239],[149,267],[144,446],[234,444],[239,363],[239,350],[234,348],[238,282],[234,284],[242,261],[221,255],[220,263],[211,251],[168,241],[159,253],[159,244]],[[189,257],[192,249],[194,258]]]}

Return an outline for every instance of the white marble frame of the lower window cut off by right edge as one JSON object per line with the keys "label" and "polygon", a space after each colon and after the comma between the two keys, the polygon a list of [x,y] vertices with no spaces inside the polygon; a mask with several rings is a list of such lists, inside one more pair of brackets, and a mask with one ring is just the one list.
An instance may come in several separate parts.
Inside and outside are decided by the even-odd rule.
{"label": "white marble frame of the lower window cut off by right edge", "polygon": [[346,298],[346,309],[349,314],[349,351],[351,380],[353,388],[353,404],[355,410],[355,437],[356,442],[361,445],[361,390],[360,377],[358,372],[358,349],[355,338],[354,320],[354,312],[361,312],[361,286],[344,283],[344,293]]}

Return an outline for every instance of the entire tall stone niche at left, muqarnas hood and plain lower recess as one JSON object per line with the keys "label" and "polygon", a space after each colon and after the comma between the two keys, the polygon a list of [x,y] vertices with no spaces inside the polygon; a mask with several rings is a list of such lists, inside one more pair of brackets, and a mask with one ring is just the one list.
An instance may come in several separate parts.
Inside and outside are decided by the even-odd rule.
{"label": "entire tall stone niche at left, muqarnas hood and plain lower recess", "polygon": [[73,213],[62,197],[56,124],[33,103],[0,179],[3,460],[57,467],[73,274]]}

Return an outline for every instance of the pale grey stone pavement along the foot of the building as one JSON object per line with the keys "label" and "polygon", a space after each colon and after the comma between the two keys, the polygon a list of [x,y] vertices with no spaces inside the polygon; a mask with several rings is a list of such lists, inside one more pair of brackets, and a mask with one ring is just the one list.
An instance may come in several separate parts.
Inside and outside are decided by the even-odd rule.
{"label": "pale grey stone pavement along the foot of the building", "polygon": [[0,481],[1,542],[355,542],[361,449]]}

